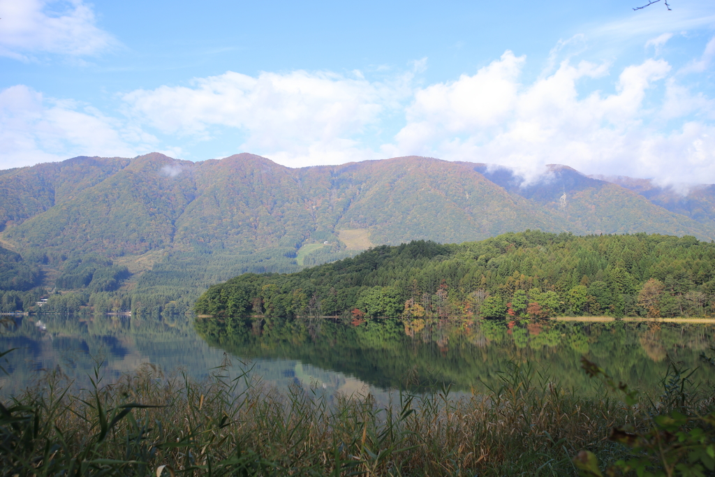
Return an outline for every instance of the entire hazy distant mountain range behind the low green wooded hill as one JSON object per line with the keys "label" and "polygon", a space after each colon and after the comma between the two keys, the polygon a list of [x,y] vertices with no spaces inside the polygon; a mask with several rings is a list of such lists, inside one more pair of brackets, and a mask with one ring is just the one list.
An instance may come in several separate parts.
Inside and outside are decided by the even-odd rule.
{"label": "entire hazy distant mountain range behind the low green wooded hill", "polygon": [[710,241],[714,189],[682,196],[559,165],[524,185],[510,169],[428,157],[299,169],[246,153],[75,157],[0,171],[0,245],[43,267],[28,275],[36,285],[94,283],[124,308],[152,308],[242,272],[292,272],[410,240],[539,229]]}

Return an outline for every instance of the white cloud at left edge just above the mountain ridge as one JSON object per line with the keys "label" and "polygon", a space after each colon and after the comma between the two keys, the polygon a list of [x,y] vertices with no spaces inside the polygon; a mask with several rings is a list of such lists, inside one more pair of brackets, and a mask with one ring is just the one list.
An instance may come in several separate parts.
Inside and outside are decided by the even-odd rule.
{"label": "white cloud at left edge just above the mountain ridge", "polygon": [[46,99],[24,85],[0,91],[2,169],[78,155],[131,157],[152,142],[137,128],[123,128],[90,107]]}

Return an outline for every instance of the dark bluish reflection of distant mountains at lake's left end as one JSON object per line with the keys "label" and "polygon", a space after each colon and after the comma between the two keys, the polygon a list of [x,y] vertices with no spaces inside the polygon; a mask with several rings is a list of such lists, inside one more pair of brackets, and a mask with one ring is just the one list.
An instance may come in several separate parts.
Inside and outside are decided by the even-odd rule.
{"label": "dark bluish reflection of distant mountains at lake's left end", "polygon": [[46,330],[29,318],[0,334],[0,349],[17,348],[6,355],[0,375],[3,394],[17,392],[39,377],[40,370],[59,370],[79,385],[88,385],[97,361],[102,362],[104,383],[140,365],[152,363],[162,370],[184,368],[196,378],[207,375],[221,362],[222,352],[199,340],[185,316],[164,318],[44,317]]}

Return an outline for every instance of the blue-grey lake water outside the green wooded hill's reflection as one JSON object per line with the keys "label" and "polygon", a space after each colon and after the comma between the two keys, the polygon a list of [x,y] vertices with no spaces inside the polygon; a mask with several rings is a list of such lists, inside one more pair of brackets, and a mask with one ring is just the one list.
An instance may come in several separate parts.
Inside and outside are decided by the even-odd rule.
{"label": "blue-grey lake water outside the green wooded hill's reflection", "polygon": [[[185,372],[190,378],[206,378],[222,363],[224,352],[199,338],[185,316],[162,318],[77,317],[43,318],[46,330],[29,318],[18,318],[16,327],[0,334],[0,350],[17,348],[0,363],[0,395],[24,390],[42,378],[44,371],[59,370],[79,387],[90,385],[97,360],[103,361],[102,383],[112,383],[123,373],[153,365],[167,374]],[[247,358],[247,357],[246,357]],[[243,361],[247,361],[244,359]],[[233,360],[232,375],[252,369],[255,382],[285,390],[288,385],[313,386],[327,395],[355,391],[375,395],[375,389],[355,378],[295,360]],[[378,393],[379,394],[379,393]],[[386,402],[385,395],[377,395]]]}

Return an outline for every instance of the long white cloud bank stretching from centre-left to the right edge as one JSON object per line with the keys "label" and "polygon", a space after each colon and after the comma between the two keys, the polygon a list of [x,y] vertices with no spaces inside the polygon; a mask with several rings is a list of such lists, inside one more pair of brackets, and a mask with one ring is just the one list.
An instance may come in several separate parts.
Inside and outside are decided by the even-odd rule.
{"label": "long white cloud bank stretching from centre-left to the right edge", "polygon": [[[579,36],[556,49],[581,44]],[[505,51],[475,74],[426,87],[413,85],[413,73],[371,82],[358,73],[227,72],[187,87],[140,89],[124,102],[138,124],[191,140],[235,129],[236,151],[294,167],[419,154],[515,167],[527,181],[553,163],[587,173],[715,181],[707,122],[715,102],[679,83],[680,72],[665,59],[612,72],[608,63],[575,62],[568,54],[524,82],[526,61]],[[593,79],[605,84],[609,75],[613,92],[581,87]],[[399,114],[399,132],[370,146],[386,118]]]}

